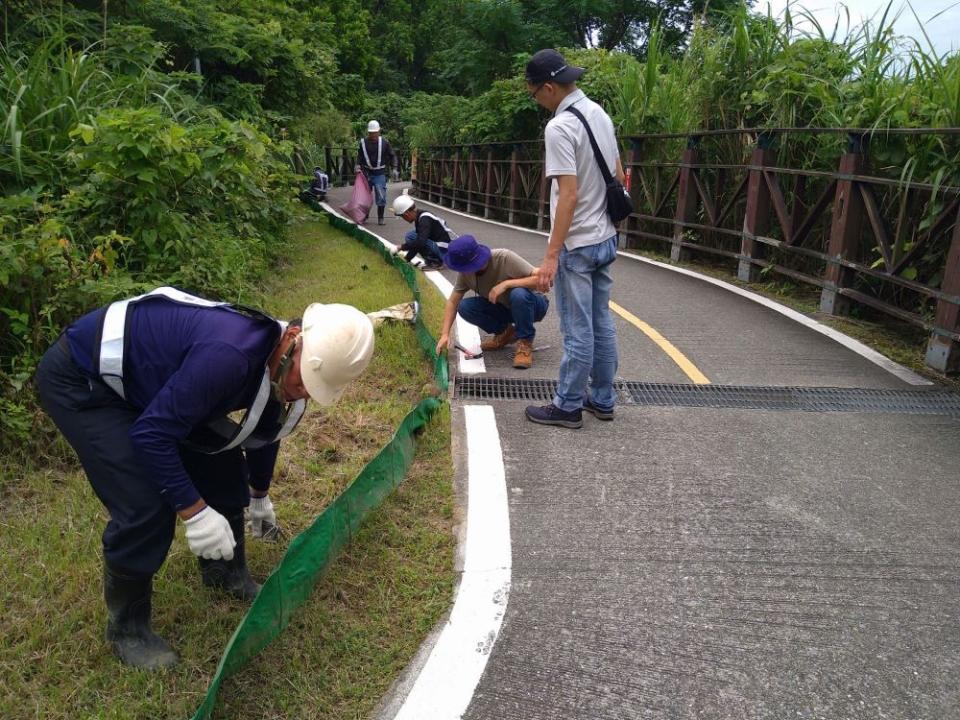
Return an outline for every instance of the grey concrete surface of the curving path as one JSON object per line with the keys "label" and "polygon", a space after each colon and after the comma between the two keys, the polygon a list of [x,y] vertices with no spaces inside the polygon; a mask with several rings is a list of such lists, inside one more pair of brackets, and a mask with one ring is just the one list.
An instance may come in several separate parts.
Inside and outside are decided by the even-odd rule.
{"label": "grey concrete surface of the curving path", "polygon": [[[542,257],[541,236],[446,217]],[[701,280],[623,258],[614,278],[613,300],[712,383],[908,387]],[[690,382],[635,324],[618,333],[621,378]],[[487,375],[556,378],[555,311],[536,344],[532,370],[488,353]],[[626,405],[571,431],[492,405],[512,589],[464,718],[960,717],[955,416]]]}

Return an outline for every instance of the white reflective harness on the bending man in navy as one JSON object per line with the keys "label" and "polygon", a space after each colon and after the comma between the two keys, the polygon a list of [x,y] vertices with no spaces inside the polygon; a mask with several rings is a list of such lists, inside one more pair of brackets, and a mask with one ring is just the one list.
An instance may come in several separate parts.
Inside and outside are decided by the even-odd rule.
{"label": "white reflective harness on the bending man in navy", "polygon": [[[271,320],[280,326],[281,333],[286,329],[286,323],[283,323],[279,320],[274,320],[270,316],[265,315],[257,310],[234,306],[230,303],[214,302],[212,300],[207,300],[206,298],[197,297],[196,295],[190,295],[189,293],[185,293],[182,290],[177,290],[176,288],[172,287],[157,288],[156,290],[152,290],[151,292],[138,295],[137,297],[130,298],[128,300],[120,300],[118,302],[111,303],[104,313],[103,326],[101,327],[100,332],[99,354],[94,360],[94,366],[97,368],[97,371],[103,382],[106,383],[107,386],[110,387],[110,389],[112,389],[115,393],[117,393],[117,395],[124,399],[126,398],[126,393],[123,387],[124,334],[129,322],[130,310],[134,305],[147,298],[155,299],[158,297],[164,297],[167,300],[180,303],[182,305],[193,305],[195,307],[206,308],[222,308],[224,310],[241,313],[251,317]],[[284,360],[285,367],[288,367],[290,361],[292,360],[292,355],[288,353]],[[222,440],[222,443],[220,443],[218,440],[216,447],[211,447],[209,445],[198,446],[196,443],[192,442],[188,444],[190,444],[192,447],[195,447],[197,450],[213,454],[230,450],[238,446],[244,449],[263,447],[264,445],[270,445],[271,443],[286,437],[297,426],[297,423],[300,422],[300,419],[303,417],[303,413],[306,410],[307,403],[305,400],[297,400],[293,403],[287,403],[283,411],[279,413],[279,417],[283,419],[283,422],[280,430],[277,433],[271,433],[269,437],[255,434],[254,430],[256,430],[257,424],[260,422],[260,419],[264,413],[264,409],[267,407],[268,403],[282,402],[282,399],[272,399],[271,396],[273,394],[274,393],[270,382],[270,369],[269,367],[265,367],[263,370],[263,378],[260,380],[260,386],[257,389],[257,394],[254,397],[253,403],[244,412],[243,418],[241,418],[240,422],[236,422],[229,417],[223,417],[206,424],[206,429],[212,431],[215,437],[217,437],[219,440]]]}

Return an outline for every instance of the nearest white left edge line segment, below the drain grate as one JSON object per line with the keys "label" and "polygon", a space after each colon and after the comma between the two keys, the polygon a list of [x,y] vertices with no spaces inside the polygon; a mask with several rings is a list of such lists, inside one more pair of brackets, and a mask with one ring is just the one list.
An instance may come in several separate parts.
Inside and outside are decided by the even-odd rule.
{"label": "nearest white left edge line segment, below the drain grate", "polygon": [[437,643],[394,720],[459,720],[493,650],[510,597],[510,513],[496,416],[465,405],[469,501],[463,574]]}

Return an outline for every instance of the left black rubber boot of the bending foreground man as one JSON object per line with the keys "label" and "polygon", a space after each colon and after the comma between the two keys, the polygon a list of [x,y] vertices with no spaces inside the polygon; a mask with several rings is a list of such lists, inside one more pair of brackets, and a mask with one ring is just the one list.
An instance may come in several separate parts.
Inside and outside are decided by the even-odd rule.
{"label": "left black rubber boot of the bending foreground man", "polygon": [[177,654],[150,629],[153,576],[133,575],[104,563],[107,642],[124,665],[159,670],[177,664]]}

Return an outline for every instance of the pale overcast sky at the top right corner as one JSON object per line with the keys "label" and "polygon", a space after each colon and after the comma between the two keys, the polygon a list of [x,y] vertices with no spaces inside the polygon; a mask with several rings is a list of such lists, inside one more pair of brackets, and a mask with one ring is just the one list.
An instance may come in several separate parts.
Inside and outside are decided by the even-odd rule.
{"label": "pale overcast sky at the top right corner", "polygon": [[[879,20],[887,7],[889,0],[848,0],[843,3],[850,10],[850,22],[856,26],[863,19],[876,16]],[[767,5],[774,15],[783,12],[787,5],[787,0],[757,0],[754,4],[754,10],[757,12],[766,12]],[[914,11],[923,21],[927,35],[936,49],[937,54],[942,55],[946,52],[960,50],[960,2],[958,0],[911,0],[910,3]],[[791,2],[791,7],[804,7],[809,10],[816,18],[825,32],[830,32],[837,18],[845,18],[846,14],[840,7],[841,3],[836,0],[801,0],[800,2]],[[910,8],[907,7],[904,0],[893,0],[890,14],[896,15],[900,11],[900,16],[894,24],[898,35],[917,38],[924,49],[927,49],[926,41],[920,26],[914,18]],[[931,20],[937,13],[942,13]],[[795,24],[799,22],[795,19]],[[841,20],[840,32],[843,33],[845,22]]]}

